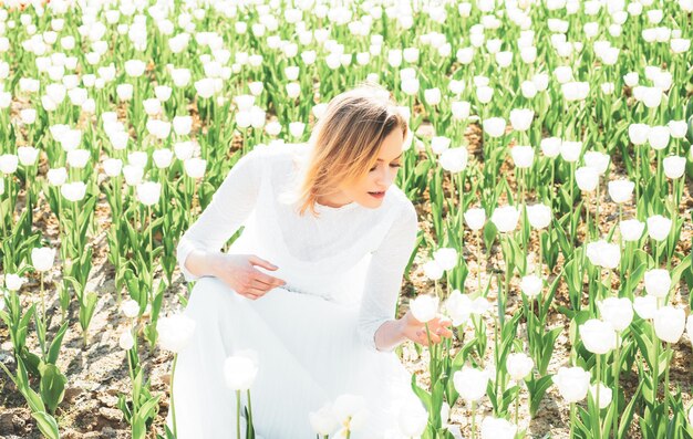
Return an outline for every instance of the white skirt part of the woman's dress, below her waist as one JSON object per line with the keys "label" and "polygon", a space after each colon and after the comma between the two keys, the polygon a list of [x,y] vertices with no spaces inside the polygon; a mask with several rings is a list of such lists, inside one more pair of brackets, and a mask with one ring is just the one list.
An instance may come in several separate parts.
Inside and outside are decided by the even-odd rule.
{"label": "white skirt part of the woman's dress, below her waist", "polygon": [[[200,278],[185,314],[197,324],[174,376],[178,439],[236,437],[236,393],[226,387],[223,366],[240,349],[258,354],[250,403],[265,439],[314,438],[309,412],[342,394],[363,396],[369,411],[351,437],[382,438],[396,431],[401,404],[416,399],[396,354],[359,342],[355,307],[282,288],[251,301],[216,278]],[[170,410],[167,422],[173,429]],[[242,419],[241,430],[245,438]]]}

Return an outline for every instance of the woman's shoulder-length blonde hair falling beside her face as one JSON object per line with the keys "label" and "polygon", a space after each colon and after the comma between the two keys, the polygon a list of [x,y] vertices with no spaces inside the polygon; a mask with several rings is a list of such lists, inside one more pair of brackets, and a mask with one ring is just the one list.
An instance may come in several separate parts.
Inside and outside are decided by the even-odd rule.
{"label": "woman's shoulder-length blonde hair falling beside her face", "polygon": [[395,128],[406,137],[406,121],[382,86],[362,83],[334,96],[313,127],[299,173],[302,178],[285,192],[285,202],[298,202],[301,216],[310,209],[318,217],[317,199],[365,175],[377,163],[383,139]]}

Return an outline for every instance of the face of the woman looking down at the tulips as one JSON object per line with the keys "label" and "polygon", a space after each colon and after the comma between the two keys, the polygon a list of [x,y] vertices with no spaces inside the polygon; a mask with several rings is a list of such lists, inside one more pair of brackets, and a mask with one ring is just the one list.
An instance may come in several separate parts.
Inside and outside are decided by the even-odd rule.
{"label": "face of the woman looking down at the tulips", "polygon": [[[394,182],[402,166],[402,146],[404,136],[401,129],[393,129],[383,139],[377,151],[377,163],[364,176],[348,185],[340,185],[339,191],[330,197],[333,205],[343,206],[355,201],[371,209],[380,207],[385,191]],[[376,194],[380,192],[380,194]],[[321,202],[324,203],[324,202]],[[328,203],[328,206],[330,206]],[[339,207],[338,206],[338,207]]]}

